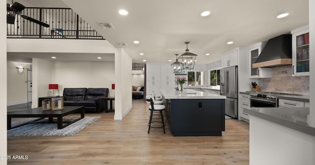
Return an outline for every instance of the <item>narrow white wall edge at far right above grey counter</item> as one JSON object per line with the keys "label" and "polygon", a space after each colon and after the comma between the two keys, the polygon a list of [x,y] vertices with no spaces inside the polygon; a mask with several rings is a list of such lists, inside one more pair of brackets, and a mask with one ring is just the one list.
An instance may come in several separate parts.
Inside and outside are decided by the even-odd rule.
{"label": "narrow white wall edge at far right above grey counter", "polygon": [[313,54],[310,55],[310,119],[311,125],[315,127],[315,0],[309,0],[309,13],[310,54]]}

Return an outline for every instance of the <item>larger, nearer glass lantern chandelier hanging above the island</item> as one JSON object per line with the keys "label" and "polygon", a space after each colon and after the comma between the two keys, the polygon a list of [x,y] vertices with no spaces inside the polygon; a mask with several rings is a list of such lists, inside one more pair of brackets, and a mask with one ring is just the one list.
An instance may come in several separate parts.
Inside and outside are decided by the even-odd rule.
{"label": "larger, nearer glass lantern chandelier hanging above the island", "polygon": [[197,54],[193,54],[189,52],[188,44],[189,42],[185,42],[186,44],[186,52],[183,53],[181,56],[179,56],[179,59],[181,60],[182,64],[182,70],[193,70],[193,67],[195,66],[195,60]]}

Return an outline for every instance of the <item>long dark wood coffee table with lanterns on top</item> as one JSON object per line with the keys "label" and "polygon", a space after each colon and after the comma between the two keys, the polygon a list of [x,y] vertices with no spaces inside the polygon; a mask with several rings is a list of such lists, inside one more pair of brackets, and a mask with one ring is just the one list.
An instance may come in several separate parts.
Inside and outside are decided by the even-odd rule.
{"label": "long dark wood coffee table with lanterns on top", "polygon": [[[81,113],[81,118],[77,118],[63,125],[63,117],[73,114],[73,113]],[[38,107],[38,108],[28,109],[24,111],[8,113],[7,114],[7,129],[8,130],[12,129],[11,118],[49,118],[48,119],[49,123],[53,123],[53,118],[57,118],[58,129],[63,129],[64,127],[84,118],[84,107],[83,106],[65,106],[63,107],[63,110],[42,110],[42,107]],[[22,124],[22,125],[25,125],[25,124]]]}

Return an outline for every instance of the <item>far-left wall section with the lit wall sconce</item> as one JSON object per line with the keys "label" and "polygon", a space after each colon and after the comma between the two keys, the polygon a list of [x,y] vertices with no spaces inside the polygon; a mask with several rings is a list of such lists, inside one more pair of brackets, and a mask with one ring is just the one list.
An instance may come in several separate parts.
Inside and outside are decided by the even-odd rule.
{"label": "far-left wall section with the lit wall sconce", "polygon": [[[24,71],[19,73],[16,67],[23,67]],[[7,62],[7,105],[27,103],[27,68],[29,64],[19,62]]]}

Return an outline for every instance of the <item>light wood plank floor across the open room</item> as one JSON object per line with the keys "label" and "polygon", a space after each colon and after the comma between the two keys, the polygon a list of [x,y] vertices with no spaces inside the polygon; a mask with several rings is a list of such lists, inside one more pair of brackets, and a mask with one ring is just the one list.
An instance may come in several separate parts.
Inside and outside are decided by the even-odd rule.
{"label": "light wood plank floor across the open room", "polygon": [[71,137],[8,137],[8,165],[249,165],[249,124],[225,120],[222,137],[173,137],[166,124],[147,133],[148,105],[139,99],[123,120],[114,113]]}

